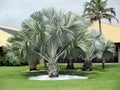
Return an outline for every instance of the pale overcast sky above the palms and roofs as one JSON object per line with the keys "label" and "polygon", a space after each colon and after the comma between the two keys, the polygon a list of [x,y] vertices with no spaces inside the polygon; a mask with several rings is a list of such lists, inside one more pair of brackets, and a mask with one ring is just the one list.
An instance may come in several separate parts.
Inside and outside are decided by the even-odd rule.
{"label": "pale overcast sky above the palms and roofs", "polygon": [[[82,15],[86,1],[89,0],[0,0],[0,24],[20,28],[30,14],[48,7]],[[120,0],[108,0],[108,6],[115,8],[116,17],[120,21]],[[112,24],[120,26],[115,20]]]}

